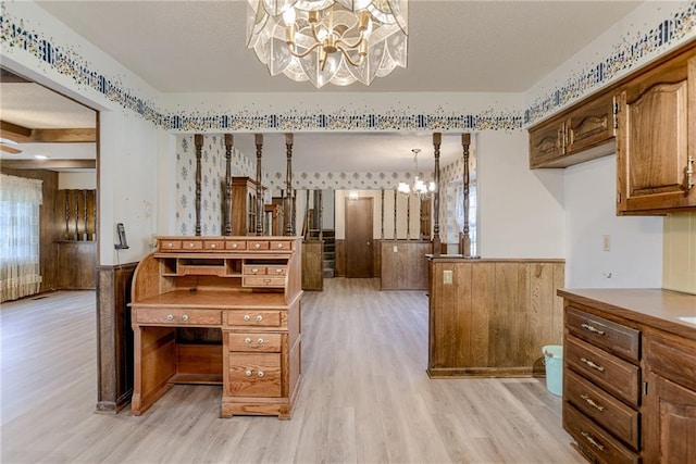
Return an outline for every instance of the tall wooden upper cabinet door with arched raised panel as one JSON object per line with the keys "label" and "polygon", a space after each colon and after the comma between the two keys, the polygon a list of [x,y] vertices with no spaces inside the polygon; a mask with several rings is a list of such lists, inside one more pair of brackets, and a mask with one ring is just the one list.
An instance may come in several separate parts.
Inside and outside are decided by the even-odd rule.
{"label": "tall wooden upper cabinet door with arched raised panel", "polygon": [[696,208],[696,58],[668,63],[618,96],[617,212]]}

